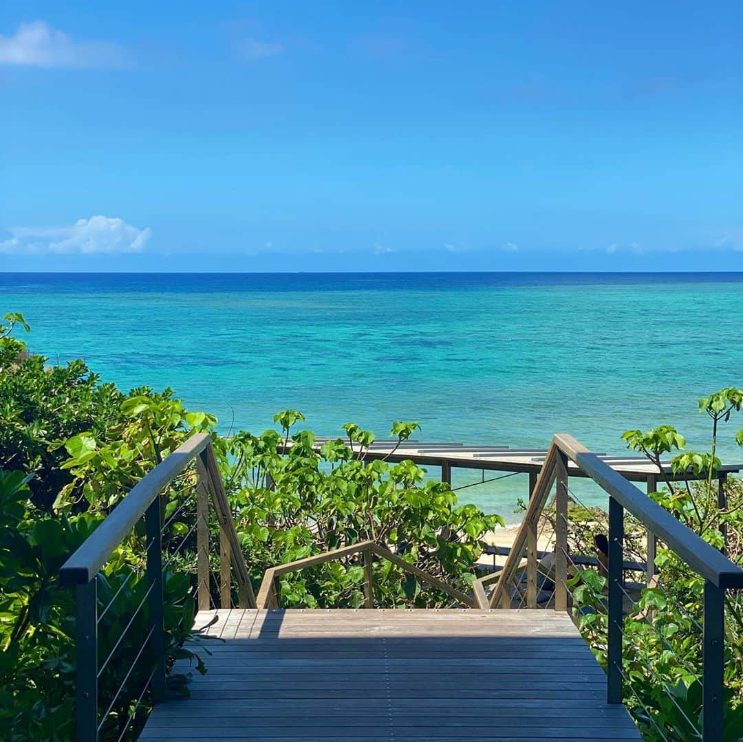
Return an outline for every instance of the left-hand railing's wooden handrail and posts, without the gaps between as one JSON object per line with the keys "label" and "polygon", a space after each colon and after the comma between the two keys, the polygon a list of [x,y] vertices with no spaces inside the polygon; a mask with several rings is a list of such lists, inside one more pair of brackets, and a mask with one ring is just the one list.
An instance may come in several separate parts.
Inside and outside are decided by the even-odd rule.
{"label": "left-hand railing's wooden handrail and posts, without the gaps between", "polygon": [[[195,461],[196,467],[196,518],[192,529],[182,539],[181,547],[193,530],[196,533],[196,579],[195,597],[199,610],[210,608],[210,550],[209,516],[210,500],[218,520],[220,541],[219,602],[221,607],[232,605],[233,577],[237,584],[238,602],[241,607],[255,608],[256,599],[250,584],[247,564],[240,549],[233,524],[227,495],[221,481],[212,442],[209,435],[192,435],[183,445],[172,452],[165,461],[155,466],[132,488],[128,495],[114,508],[113,512],[100,524],[97,530],[65,562],[60,571],[60,579],[77,590],[77,691],[76,722],[77,740],[97,740],[100,730],[114,707],[119,694],[129,680],[136,663],[149,663],[151,673],[146,686],[140,691],[140,699],[149,690],[152,703],[159,703],[166,692],[166,638],[163,625],[163,518],[160,492]],[[123,681],[114,697],[104,700],[108,708],[103,713],[99,709],[98,686],[102,669],[108,664],[119,646],[114,645],[111,653],[100,661],[98,657],[98,630],[100,621],[111,603],[100,611],[97,595],[98,576],[111,558],[114,550],[132,533],[134,527],[145,520],[146,531],[146,570],[147,590],[145,599],[129,616],[129,622],[120,639],[132,626],[139,611],[146,606],[147,633],[138,650],[134,650],[134,660],[127,658],[129,665],[117,663],[123,674]],[[178,549],[168,553],[170,559]],[[118,594],[118,593],[117,593]],[[111,599],[113,602],[117,595]],[[190,628],[190,627],[189,627]],[[128,692],[130,689],[128,689]],[[134,712],[132,712],[133,715]],[[132,716],[120,725],[123,736],[131,723]]]}

